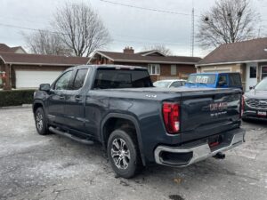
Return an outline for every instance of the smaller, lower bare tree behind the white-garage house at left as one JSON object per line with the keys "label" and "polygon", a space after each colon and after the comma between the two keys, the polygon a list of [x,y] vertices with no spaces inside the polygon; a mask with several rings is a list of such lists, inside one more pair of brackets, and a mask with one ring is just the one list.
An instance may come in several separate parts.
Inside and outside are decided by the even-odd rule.
{"label": "smaller, lower bare tree behind the white-garage house at left", "polygon": [[61,36],[58,33],[39,30],[30,35],[23,34],[23,36],[30,52],[48,55],[71,55],[72,51],[61,42]]}

